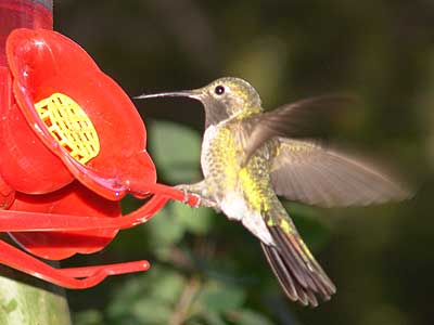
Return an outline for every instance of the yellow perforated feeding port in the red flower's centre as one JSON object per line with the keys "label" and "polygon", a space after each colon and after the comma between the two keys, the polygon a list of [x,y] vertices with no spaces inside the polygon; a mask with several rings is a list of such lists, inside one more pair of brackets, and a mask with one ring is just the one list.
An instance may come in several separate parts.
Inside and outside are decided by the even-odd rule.
{"label": "yellow perforated feeding port in the red flower's centre", "polygon": [[78,162],[84,165],[99,154],[97,130],[73,99],[56,92],[36,103],[35,109],[51,135]]}

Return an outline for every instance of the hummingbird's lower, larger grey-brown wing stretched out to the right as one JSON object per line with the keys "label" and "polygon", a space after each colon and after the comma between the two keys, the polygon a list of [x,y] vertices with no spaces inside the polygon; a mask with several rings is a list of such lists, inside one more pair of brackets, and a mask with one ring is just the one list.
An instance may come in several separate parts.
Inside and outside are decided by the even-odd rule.
{"label": "hummingbird's lower, larger grey-brown wing stretched out to the right", "polygon": [[411,194],[384,171],[315,142],[279,138],[271,166],[278,195],[322,207],[369,205]]}

